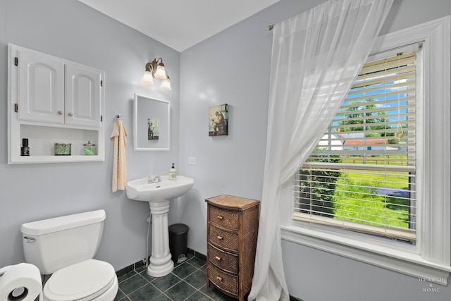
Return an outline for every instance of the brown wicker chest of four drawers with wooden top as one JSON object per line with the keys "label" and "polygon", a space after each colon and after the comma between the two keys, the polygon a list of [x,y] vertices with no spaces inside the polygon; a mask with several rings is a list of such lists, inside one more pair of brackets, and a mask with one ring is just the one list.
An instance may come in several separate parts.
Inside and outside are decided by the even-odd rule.
{"label": "brown wicker chest of four drawers with wooden top", "polygon": [[259,205],[254,199],[220,195],[207,208],[206,284],[245,300],[254,276]]}

